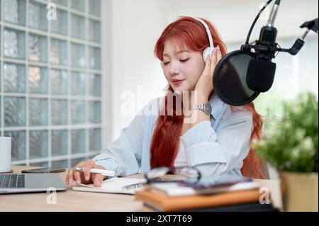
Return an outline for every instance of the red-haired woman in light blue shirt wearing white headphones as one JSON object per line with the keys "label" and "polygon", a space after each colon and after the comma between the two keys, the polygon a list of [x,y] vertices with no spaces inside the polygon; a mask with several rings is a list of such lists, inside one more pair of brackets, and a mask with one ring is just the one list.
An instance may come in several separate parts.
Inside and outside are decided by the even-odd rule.
{"label": "red-haired woman in light blue shirt wearing white headphones", "polygon": [[[209,35],[215,48],[204,60]],[[250,142],[262,130],[253,103],[235,108],[213,93],[213,72],[226,53],[209,21],[184,16],[169,24],[155,46],[169,84],[167,94],[148,103],[102,154],[77,164],[84,167],[84,173],[69,169],[67,182],[101,186],[103,176],[90,174],[91,168],[125,176],[157,166],[192,166],[203,176],[215,178],[237,179],[242,174],[263,178],[262,165],[250,149]],[[205,110],[199,109],[201,104]],[[150,109],[157,115],[147,113]]]}

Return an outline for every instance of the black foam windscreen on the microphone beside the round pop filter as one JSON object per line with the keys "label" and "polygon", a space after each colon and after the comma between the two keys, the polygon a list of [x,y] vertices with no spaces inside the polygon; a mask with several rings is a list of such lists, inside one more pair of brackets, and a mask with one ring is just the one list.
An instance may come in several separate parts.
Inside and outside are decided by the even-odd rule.
{"label": "black foam windscreen on the microphone beside the round pop filter", "polygon": [[259,92],[266,92],[272,87],[276,64],[264,60],[250,60],[247,69],[247,86]]}

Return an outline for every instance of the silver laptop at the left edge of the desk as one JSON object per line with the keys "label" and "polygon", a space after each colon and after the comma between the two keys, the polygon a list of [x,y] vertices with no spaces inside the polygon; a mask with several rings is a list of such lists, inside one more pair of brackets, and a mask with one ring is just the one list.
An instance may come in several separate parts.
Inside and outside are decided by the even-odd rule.
{"label": "silver laptop at the left edge of the desk", "polygon": [[59,174],[0,174],[0,194],[65,190]]}

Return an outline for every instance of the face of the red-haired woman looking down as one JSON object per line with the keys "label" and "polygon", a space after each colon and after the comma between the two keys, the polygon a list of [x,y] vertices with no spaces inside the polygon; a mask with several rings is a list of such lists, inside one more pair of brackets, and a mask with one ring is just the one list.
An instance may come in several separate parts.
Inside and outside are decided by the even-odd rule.
{"label": "face of the red-haired woman looking down", "polygon": [[164,75],[174,91],[193,91],[205,67],[201,52],[192,52],[172,40],[164,43]]}

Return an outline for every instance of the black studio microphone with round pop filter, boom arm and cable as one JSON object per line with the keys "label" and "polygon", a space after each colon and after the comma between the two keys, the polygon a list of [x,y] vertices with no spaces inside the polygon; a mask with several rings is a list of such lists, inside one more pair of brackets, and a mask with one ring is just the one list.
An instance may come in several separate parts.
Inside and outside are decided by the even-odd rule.
{"label": "black studio microphone with round pop filter, boom arm and cable", "polygon": [[277,29],[274,28],[280,0],[276,0],[269,14],[266,26],[260,30],[259,40],[249,43],[250,34],[262,11],[272,2],[267,1],[254,19],[247,39],[240,50],[225,55],[216,65],[213,74],[214,90],[220,99],[231,106],[244,106],[254,101],[260,93],[269,91],[274,82],[276,64],[272,60],[276,52],[296,55],[304,45],[309,30],[318,33],[318,18],[303,23],[306,33],[298,38],[290,49],[283,49],[276,43]]}

